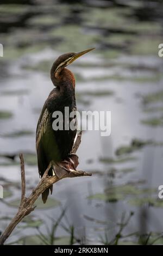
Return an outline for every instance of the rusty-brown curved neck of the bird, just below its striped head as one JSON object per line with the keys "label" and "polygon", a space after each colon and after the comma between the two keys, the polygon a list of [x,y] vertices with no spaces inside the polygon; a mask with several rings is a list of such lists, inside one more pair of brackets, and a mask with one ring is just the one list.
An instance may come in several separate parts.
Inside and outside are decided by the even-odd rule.
{"label": "rusty-brown curved neck of the bird, just below its striped head", "polygon": [[60,90],[75,89],[75,78],[73,73],[64,68],[57,76],[54,76],[54,72],[51,72],[51,80],[54,86],[59,87]]}

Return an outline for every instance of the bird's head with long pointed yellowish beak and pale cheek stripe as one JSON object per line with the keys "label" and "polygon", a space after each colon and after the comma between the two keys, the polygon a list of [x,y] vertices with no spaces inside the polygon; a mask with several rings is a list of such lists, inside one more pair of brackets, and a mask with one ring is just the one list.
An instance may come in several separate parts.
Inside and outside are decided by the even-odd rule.
{"label": "bird's head with long pointed yellowish beak and pale cheek stripe", "polygon": [[74,60],[78,59],[80,56],[84,55],[87,52],[90,52],[94,50],[95,48],[91,48],[82,52],[68,52],[65,54],[62,54],[61,56],[58,57],[57,60],[52,65],[51,69],[51,79],[52,81],[54,79],[57,79],[61,70],[66,68],[66,66],[70,65]]}

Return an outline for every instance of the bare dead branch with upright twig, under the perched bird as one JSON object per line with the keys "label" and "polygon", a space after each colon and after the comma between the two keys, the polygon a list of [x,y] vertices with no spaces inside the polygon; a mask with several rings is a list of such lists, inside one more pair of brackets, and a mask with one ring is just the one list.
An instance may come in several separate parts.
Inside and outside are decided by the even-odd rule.
{"label": "bare dead branch with upright twig, under the perched bird", "polygon": [[[82,133],[80,132],[76,143],[73,147],[72,153],[76,153],[79,144],[81,142],[81,135]],[[25,178],[25,170],[24,170],[24,159],[23,155],[20,154],[20,161],[21,161],[21,203],[18,208],[17,214],[12,218],[11,222],[9,223],[8,227],[4,230],[2,235],[0,236],[0,245],[4,245],[4,242],[8,239],[14,228],[18,223],[21,222],[21,220],[30,214],[36,206],[34,206],[34,203],[36,199],[40,196],[40,194],[46,190],[46,188],[50,187],[52,184],[58,182],[61,179],[64,178],[74,178],[74,177],[79,177],[79,176],[91,176],[91,173],[86,173],[82,170],[73,170],[70,172],[66,172],[64,176],[61,178],[58,178],[56,175],[54,176],[48,176],[48,171],[51,168],[51,164],[49,164],[48,168],[46,169],[44,175],[42,176],[42,179],[40,180],[39,184],[34,188],[32,193],[30,194],[29,197],[26,198],[26,178]]]}

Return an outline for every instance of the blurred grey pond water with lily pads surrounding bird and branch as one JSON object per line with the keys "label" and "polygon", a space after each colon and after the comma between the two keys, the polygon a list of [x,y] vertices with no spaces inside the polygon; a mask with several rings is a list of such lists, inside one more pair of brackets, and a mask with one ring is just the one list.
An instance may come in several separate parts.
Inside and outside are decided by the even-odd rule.
{"label": "blurred grey pond water with lily pads surrounding bird and branch", "polygon": [[96,47],[72,64],[79,111],[111,111],[111,136],[83,132],[79,169],[8,243],[163,244],[162,1],[1,0],[0,230],[17,211],[20,164],[27,194],[39,182],[35,130],[62,53]]}

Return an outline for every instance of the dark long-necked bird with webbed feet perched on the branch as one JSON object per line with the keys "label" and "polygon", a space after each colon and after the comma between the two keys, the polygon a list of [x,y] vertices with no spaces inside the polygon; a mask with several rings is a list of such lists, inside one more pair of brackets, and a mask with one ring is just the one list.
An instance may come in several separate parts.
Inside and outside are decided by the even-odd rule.
{"label": "dark long-necked bird with webbed feet perched on the branch", "polygon": [[[73,73],[66,67],[94,49],[62,54],[52,65],[51,81],[54,88],[43,105],[36,128],[36,153],[40,178],[50,163],[53,163],[48,172],[50,176],[57,175],[61,178],[65,172],[70,170],[70,166],[76,169],[76,155],[74,156],[71,151],[77,138],[77,121],[75,118],[70,118],[69,115],[65,116],[65,107],[68,107],[69,113],[77,111],[76,81]],[[53,118],[53,113],[56,111],[62,113],[63,118],[60,122],[62,122],[63,129],[53,129],[53,121],[56,120]],[[65,122],[70,124],[70,121],[74,121],[74,129],[65,129]],[[63,163],[66,167],[63,167]],[[49,191],[52,194],[53,185],[42,193],[43,203],[46,203]]]}

